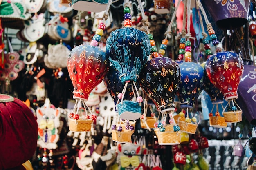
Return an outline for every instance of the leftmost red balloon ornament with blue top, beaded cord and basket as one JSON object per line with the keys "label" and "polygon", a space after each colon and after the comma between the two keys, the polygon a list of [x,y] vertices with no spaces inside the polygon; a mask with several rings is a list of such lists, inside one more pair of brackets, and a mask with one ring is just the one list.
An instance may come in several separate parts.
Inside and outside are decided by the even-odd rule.
{"label": "leftmost red balloon ornament with blue top, beaded cord and basket", "polygon": [[[105,28],[105,24],[100,23],[90,45],[79,45],[70,51],[67,70],[74,86],[73,98],[76,99],[74,110],[69,115],[70,131],[90,131],[92,122],[96,120],[96,115],[92,114],[86,101],[92,90],[101,83],[108,73],[109,63],[106,53],[97,47]],[[91,116],[86,112],[85,117],[79,117],[78,112],[81,105],[88,108]]]}

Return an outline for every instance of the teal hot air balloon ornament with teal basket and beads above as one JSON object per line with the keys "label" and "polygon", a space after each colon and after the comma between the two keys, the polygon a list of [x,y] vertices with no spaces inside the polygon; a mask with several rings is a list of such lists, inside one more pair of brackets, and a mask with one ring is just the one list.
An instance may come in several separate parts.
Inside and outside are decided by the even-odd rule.
{"label": "teal hot air balloon ornament with teal basket and beads above", "polygon": [[[119,93],[117,110],[121,119],[136,120],[141,117],[141,102],[135,82],[150,55],[150,41],[143,31],[132,27],[130,8],[124,7],[124,28],[110,33],[106,43],[106,53],[113,67],[119,73],[119,79],[125,84]],[[137,101],[124,100],[127,86],[136,90]]]}

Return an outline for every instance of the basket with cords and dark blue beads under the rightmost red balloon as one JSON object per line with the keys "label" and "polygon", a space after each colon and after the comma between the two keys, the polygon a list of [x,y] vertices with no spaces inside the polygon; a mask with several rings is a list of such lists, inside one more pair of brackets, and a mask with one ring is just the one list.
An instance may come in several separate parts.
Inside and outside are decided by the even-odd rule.
{"label": "basket with cords and dark blue beads under the rightmost red balloon", "polygon": [[224,116],[225,122],[227,123],[236,123],[242,121],[242,110],[238,104],[236,104],[236,106],[239,108],[238,110],[235,104],[235,100],[231,99],[223,110],[222,114]]}

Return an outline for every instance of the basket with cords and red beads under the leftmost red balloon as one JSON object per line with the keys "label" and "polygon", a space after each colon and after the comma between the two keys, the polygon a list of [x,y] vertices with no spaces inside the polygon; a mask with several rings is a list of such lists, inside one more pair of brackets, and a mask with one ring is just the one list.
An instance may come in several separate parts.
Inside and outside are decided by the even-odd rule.
{"label": "basket with cords and red beads under the leftmost red balloon", "polygon": [[96,120],[96,115],[92,115],[91,113],[90,117],[86,109],[83,109],[85,112],[81,112],[81,104],[83,104],[84,107],[86,105],[82,99],[76,100],[74,110],[69,114],[69,130],[73,132],[90,132],[92,128],[92,122]]}

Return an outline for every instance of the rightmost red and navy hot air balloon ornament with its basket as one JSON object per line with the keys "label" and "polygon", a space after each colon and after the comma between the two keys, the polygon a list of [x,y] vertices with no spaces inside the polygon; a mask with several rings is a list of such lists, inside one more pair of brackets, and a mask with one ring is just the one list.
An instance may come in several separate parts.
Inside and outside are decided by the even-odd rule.
{"label": "rightmost red and navy hot air balloon ornament with its basket", "polygon": [[222,91],[224,99],[228,101],[223,110],[225,122],[242,121],[242,111],[235,102],[238,98],[238,84],[244,71],[240,55],[230,51],[215,53],[207,59],[205,71],[211,83]]}

